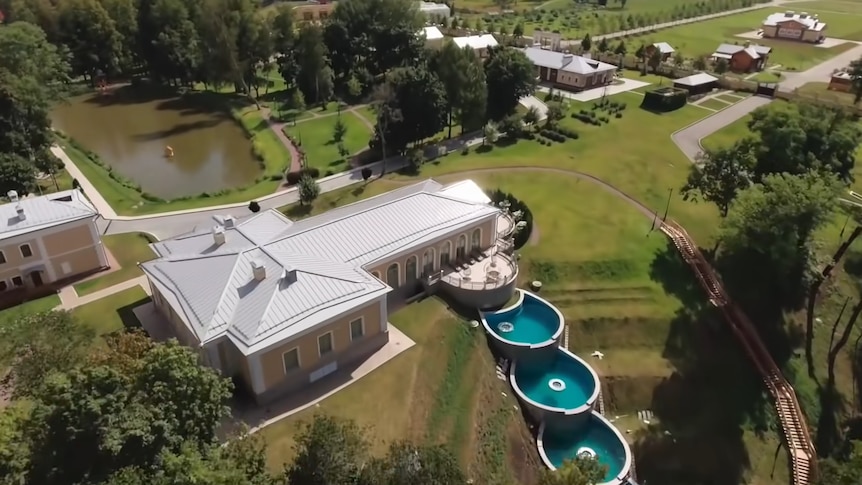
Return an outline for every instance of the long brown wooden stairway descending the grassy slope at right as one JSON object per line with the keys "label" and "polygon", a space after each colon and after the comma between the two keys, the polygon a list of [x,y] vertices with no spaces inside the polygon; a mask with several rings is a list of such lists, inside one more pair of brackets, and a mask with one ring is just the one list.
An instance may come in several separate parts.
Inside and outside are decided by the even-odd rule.
{"label": "long brown wooden stairway descending the grassy slope at right", "polygon": [[709,295],[710,303],[721,310],[745,353],[763,378],[784,431],[787,452],[790,454],[793,485],[809,485],[817,478],[817,453],[805,414],[796,399],[796,392],[772,360],[754,324],[728,297],[718,275],[685,229],[674,222],[663,222],[661,231],[673,241],[685,262],[692,267],[697,280]]}

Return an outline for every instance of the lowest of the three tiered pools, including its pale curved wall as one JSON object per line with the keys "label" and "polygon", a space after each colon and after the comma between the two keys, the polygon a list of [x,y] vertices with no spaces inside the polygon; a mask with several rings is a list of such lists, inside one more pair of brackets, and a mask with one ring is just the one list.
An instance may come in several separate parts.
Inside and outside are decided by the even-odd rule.
{"label": "lowest of the three tiered pools, including its pale curved wall", "polygon": [[545,466],[556,470],[563,461],[575,458],[585,448],[607,467],[601,485],[626,483],[632,468],[632,452],[623,435],[604,416],[593,411],[577,432],[558,432],[550,423],[542,423],[536,438],[539,456]]}

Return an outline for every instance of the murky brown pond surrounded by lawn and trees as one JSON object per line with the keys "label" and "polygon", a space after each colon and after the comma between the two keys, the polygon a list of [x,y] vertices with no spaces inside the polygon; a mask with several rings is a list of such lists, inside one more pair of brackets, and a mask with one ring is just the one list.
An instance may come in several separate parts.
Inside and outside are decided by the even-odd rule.
{"label": "murky brown pond surrounded by lawn and trees", "polygon": [[242,127],[212,100],[127,86],[73,98],[51,119],[144,192],[174,199],[247,185],[261,173]]}

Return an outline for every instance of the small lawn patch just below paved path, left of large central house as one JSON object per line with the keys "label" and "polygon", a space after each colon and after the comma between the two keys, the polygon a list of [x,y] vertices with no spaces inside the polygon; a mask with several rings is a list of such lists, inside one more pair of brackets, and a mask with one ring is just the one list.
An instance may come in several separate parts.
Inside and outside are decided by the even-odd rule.
{"label": "small lawn patch just below paved path, left of large central house", "polygon": [[75,308],[72,314],[81,323],[92,327],[97,335],[104,335],[124,328],[140,327],[141,323],[132,309],[148,300],[146,292],[136,286]]}

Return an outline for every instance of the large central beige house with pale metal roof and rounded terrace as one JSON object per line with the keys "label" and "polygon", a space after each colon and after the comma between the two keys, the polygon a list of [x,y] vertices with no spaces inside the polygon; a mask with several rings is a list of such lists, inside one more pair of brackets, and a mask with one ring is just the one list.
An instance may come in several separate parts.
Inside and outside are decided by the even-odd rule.
{"label": "large central beige house with pale metal roof and rounded terrace", "polygon": [[222,218],[141,268],[170,333],[268,402],[376,352],[389,311],[422,292],[503,305],[513,230],[472,181],[427,180],[300,221]]}

